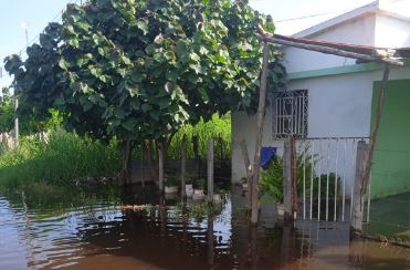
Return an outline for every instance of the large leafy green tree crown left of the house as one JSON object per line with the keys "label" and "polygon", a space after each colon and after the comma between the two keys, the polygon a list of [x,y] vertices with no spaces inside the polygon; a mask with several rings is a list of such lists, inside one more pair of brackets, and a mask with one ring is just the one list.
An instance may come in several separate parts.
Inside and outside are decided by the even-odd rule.
{"label": "large leafy green tree crown left of the house", "polygon": [[[28,48],[29,58],[9,56],[6,69],[22,114],[42,118],[52,107],[65,113],[67,127],[117,136],[125,147],[164,141],[214,112],[255,111],[255,21],[264,17],[248,1],[90,0],[69,4],[62,23],[49,24],[40,44]],[[284,70],[275,53],[270,60],[273,90]]]}

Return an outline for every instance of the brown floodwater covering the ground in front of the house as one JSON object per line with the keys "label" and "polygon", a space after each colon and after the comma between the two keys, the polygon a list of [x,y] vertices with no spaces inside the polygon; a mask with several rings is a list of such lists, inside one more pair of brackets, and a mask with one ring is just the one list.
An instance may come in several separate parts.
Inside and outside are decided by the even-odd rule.
{"label": "brown floodwater covering the ground in front of the house", "polygon": [[[48,196],[0,194],[0,269],[410,269],[410,250],[350,242],[347,224],[284,226],[264,204],[250,227],[235,188],[193,216],[149,193]],[[116,208],[145,202],[154,207]]]}

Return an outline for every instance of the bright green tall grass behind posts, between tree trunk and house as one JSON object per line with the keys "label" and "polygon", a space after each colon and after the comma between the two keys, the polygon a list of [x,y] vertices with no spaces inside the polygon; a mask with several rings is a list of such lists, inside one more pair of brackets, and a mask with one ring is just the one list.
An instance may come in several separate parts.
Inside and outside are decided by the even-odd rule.
{"label": "bright green tall grass behind posts, between tree trunk and house", "polygon": [[207,156],[207,142],[214,138],[214,156],[220,159],[231,157],[231,114],[220,116],[214,114],[208,122],[200,121],[197,125],[186,125],[179,129],[168,148],[168,157],[179,159],[181,156],[181,142],[187,136],[187,157],[193,158],[193,136],[198,136],[198,152],[201,157]]}

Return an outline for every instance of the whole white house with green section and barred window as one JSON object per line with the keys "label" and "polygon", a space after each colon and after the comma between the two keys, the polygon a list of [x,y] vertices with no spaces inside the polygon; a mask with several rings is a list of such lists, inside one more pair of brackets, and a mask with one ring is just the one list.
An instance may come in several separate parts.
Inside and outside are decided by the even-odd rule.
{"label": "whole white house with green section and barred window", "polygon": [[[386,1],[376,1],[294,35],[324,42],[398,49],[409,56],[410,18]],[[283,48],[287,90],[271,101],[264,123],[263,146],[283,148],[288,133],[308,142],[319,156],[316,174],[337,173],[351,190],[355,146],[368,139],[383,65],[296,48]],[[245,176],[240,141],[253,155],[256,121],[245,113],[232,115],[232,180]],[[410,62],[392,68],[372,168],[372,197],[410,191]],[[304,141],[306,139],[306,141]],[[313,148],[313,149],[312,149]]]}

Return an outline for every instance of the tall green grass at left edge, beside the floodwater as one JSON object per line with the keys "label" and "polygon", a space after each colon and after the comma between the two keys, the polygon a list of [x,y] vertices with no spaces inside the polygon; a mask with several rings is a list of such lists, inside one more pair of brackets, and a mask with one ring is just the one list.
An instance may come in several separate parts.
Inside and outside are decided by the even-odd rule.
{"label": "tall green grass at left edge, beside the floodwater", "polygon": [[104,145],[73,133],[53,132],[48,139],[22,137],[18,149],[0,156],[0,186],[66,186],[78,177],[114,176],[119,170],[117,142]]}

